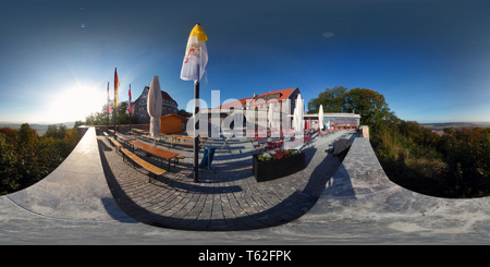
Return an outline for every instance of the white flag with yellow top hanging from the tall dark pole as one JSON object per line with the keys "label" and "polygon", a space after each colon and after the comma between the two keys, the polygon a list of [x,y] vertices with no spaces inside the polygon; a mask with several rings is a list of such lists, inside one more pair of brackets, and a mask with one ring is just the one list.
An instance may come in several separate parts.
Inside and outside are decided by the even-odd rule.
{"label": "white flag with yellow top hanging from the tall dark pole", "polygon": [[206,33],[200,25],[196,24],[188,36],[184,62],[182,63],[182,80],[200,82],[203,74],[206,71],[206,64],[208,63],[208,49],[206,48],[207,40],[208,36],[206,36]]}

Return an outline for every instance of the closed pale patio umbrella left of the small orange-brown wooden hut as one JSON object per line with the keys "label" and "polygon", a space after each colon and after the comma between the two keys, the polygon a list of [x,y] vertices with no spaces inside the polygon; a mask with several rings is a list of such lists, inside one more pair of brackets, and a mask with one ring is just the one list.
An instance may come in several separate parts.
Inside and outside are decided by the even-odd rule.
{"label": "closed pale patio umbrella left of the small orange-brown wooden hut", "polygon": [[160,117],[161,117],[161,89],[160,81],[158,76],[154,76],[151,85],[148,92],[147,110],[150,116],[149,134],[155,139],[155,146],[157,146],[157,137],[160,137]]}

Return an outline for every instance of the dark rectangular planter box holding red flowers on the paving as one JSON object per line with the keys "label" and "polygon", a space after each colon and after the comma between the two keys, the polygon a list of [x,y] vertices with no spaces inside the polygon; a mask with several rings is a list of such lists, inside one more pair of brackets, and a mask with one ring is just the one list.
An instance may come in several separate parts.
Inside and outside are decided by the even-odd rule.
{"label": "dark rectangular planter box holding red flowers on the paving", "polygon": [[253,156],[253,171],[257,182],[286,177],[303,169],[305,169],[305,153],[269,161],[259,161],[257,155]]}

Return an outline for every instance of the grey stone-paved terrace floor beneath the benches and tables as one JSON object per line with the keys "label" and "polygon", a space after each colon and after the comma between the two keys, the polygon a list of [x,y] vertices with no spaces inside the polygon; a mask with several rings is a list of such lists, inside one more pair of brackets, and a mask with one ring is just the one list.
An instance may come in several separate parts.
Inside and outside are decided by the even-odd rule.
{"label": "grey stone-paved terrace floor beneath the benches and tables", "polygon": [[[221,138],[205,145],[217,147],[212,166],[216,173],[199,172],[193,182],[193,148],[176,146],[168,150],[185,156],[170,171],[149,182],[148,172],[131,160],[123,161],[120,151],[105,137],[98,136],[103,171],[115,202],[133,219],[180,230],[238,231],[262,229],[291,222],[305,215],[320,197],[327,181],[339,168],[339,159],[326,149],[334,141],[351,141],[355,131],[340,131],[327,137],[314,135],[306,153],[306,168],[292,175],[258,183],[252,173],[252,144],[232,138],[232,154]],[[138,139],[140,141],[140,139]],[[156,166],[155,157],[137,154]],[[203,149],[199,153],[199,162]],[[163,162],[163,169],[167,162]]]}

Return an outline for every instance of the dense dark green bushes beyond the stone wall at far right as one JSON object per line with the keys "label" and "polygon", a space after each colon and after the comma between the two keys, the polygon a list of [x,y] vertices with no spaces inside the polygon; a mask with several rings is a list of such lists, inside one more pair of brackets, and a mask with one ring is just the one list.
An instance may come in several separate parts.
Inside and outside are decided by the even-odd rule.
{"label": "dense dark green bushes beyond the stone wall at far right", "polygon": [[412,191],[441,197],[490,195],[490,129],[444,129],[439,136],[415,121],[370,136],[384,172]]}

